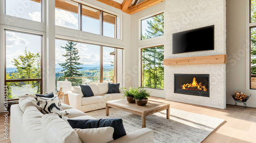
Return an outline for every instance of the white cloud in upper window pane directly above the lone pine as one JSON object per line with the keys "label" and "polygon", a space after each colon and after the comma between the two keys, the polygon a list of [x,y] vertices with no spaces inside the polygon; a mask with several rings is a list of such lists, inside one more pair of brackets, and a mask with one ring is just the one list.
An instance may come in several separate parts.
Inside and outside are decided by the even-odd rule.
{"label": "white cloud in upper window pane directly above the lone pine", "polygon": [[78,20],[71,12],[55,9],[55,25],[76,29]]}

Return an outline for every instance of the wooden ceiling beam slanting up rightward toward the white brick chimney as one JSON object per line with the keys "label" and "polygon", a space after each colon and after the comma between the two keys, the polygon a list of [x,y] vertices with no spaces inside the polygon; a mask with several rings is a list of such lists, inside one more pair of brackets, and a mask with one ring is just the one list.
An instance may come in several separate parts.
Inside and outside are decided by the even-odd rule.
{"label": "wooden ceiling beam slanting up rightward toward the white brick chimney", "polygon": [[138,5],[130,7],[128,14],[132,15],[136,12],[142,11],[146,8],[149,8],[156,4],[162,3],[163,1],[165,1],[165,0],[146,0],[144,2],[139,3]]}

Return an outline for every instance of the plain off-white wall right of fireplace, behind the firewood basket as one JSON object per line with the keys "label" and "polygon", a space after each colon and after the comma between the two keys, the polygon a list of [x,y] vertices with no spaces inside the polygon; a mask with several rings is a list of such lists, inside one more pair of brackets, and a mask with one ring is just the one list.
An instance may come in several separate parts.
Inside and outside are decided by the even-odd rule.
{"label": "plain off-white wall right of fireplace, behind the firewood basket", "polygon": [[[246,30],[249,30],[246,26],[246,23],[248,23],[246,11],[249,12],[248,2],[248,0],[226,0],[226,43],[228,56],[226,103],[233,105],[234,100],[231,94],[234,94],[234,91],[242,91],[247,95],[252,94],[247,102],[247,106],[256,107],[256,90],[246,87],[246,84],[249,84],[249,67],[246,66],[249,64],[249,47],[246,47],[246,44],[249,44],[249,38],[246,37]],[[242,106],[243,104],[239,103],[239,105]]]}

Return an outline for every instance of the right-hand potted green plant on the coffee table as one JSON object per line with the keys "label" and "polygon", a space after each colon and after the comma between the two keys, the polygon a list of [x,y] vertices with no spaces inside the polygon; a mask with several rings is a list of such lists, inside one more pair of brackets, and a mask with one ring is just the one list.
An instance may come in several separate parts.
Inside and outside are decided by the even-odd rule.
{"label": "right-hand potted green plant on the coffee table", "polygon": [[147,92],[146,89],[141,88],[137,93],[134,94],[134,99],[137,105],[145,106],[147,104],[147,98],[150,97],[151,92]]}

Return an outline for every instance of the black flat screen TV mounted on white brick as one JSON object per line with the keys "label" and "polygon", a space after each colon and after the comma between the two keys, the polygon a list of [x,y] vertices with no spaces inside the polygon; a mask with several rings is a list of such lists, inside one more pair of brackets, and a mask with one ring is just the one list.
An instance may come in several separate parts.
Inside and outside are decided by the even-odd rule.
{"label": "black flat screen TV mounted on white brick", "polygon": [[173,54],[214,50],[214,26],[173,34]]}

